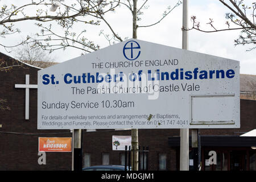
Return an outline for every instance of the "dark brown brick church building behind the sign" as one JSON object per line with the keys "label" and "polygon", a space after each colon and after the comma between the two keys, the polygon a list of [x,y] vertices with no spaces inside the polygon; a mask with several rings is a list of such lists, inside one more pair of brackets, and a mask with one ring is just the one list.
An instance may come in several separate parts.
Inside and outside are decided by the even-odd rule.
{"label": "dark brown brick church building behind the sign", "polygon": [[[0,53],[0,170],[71,170],[71,152],[47,152],[38,164],[38,137],[72,137],[70,130],[37,130],[37,90],[30,89],[29,119],[25,119],[25,89],[15,84],[37,84],[40,68]],[[255,137],[239,137],[256,128],[256,101],[241,100],[240,129],[200,129],[203,170],[255,170]],[[124,151],[112,150],[113,135],[131,130],[83,131],[83,166],[123,164]],[[150,170],[179,170],[179,129],[139,130],[139,145],[149,146]],[[208,165],[208,152],[217,152],[217,165]]]}

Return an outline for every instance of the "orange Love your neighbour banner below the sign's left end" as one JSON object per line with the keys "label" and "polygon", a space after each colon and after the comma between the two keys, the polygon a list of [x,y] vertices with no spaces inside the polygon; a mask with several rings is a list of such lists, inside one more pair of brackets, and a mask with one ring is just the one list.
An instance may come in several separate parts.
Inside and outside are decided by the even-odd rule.
{"label": "orange Love your neighbour banner below the sign's left end", "polygon": [[39,152],[72,152],[72,138],[64,137],[39,137]]}

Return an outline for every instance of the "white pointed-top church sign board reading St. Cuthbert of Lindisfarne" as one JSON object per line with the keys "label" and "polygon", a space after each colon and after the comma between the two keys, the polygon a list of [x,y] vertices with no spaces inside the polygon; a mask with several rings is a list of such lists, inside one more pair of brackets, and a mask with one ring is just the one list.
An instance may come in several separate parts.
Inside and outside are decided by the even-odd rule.
{"label": "white pointed-top church sign board reading St. Cuthbert of Lindisfarne", "polygon": [[240,127],[240,65],[129,39],[38,72],[38,129]]}

